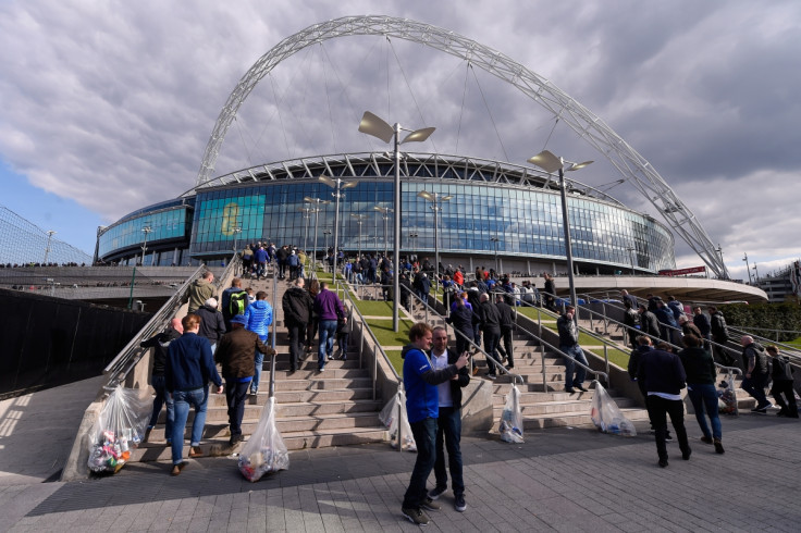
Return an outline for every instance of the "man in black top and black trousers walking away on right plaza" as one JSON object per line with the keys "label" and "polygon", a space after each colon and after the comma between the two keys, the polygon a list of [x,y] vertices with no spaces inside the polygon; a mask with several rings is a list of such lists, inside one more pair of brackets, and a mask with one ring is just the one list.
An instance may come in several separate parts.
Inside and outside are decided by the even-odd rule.
{"label": "man in black top and black trousers walking away on right plaza", "polygon": [[656,454],[660,467],[667,467],[667,416],[676,430],[681,458],[690,459],[690,443],[685,429],[685,404],[681,401],[681,389],[685,388],[687,374],[681,359],[676,354],[664,350],[651,350],[640,359],[637,380],[645,388],[645,406],[648,417],[656,432]]}

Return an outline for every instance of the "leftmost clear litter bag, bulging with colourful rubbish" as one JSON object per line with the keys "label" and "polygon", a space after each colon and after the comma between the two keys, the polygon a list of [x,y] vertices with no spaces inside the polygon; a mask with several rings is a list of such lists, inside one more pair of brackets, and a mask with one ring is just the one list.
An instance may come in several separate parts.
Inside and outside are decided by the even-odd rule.
{"label": "leftmost clear litter bag, bulging with colourful rubbish", "polygon": [[118,386],[89,432],[89,470],[119,472],[139,446],[152,411],[145,391]]}

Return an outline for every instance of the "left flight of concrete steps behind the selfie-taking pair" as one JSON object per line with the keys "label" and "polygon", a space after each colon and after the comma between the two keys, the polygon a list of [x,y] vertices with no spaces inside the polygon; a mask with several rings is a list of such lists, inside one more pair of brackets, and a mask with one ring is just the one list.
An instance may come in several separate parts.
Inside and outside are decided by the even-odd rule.
{"label": "left flight of concrete steps behind the selfie-taking pair", "polygon": [[[243,280],[243,287],[255,292],[266,290],[268,301],[273,303],[272,278],[264,281]],[[380,399],[373,399],[372,380],[367,369],[359,368],[359,354],[353,336],[347,360],[335,359],[325,364],[325,372],[317,371],[317,337],[315,351],[307,352],[305,360],[294,374],[289,374],[288,336],[283,327],[281,298],[289,287],[289,282],[279,281],[276,306],[273,317],[278,324],[275,349],[276,424],[289,450],[320,448],[382,442],[386,431],[378,414],[383,407]],[[267,404],[270,389],[270,360],[264,359],[259,384],[259,394],[248,397],[243,418],[243,433],[247,437],[256,429]],[[165,410],[162,410],[159,424],[150,433],[148,443],[133,454],[133,460],[169,460],[171,453],[164,437]],[[189,411],[185,438],[192,432],[194,410]],[[229,445],[231,437],[227,423],[225,395],[211,394],[206,417],[204,438],[200,448],[207,456],[229,455],[238,451],[243,444]],[[188,446],[184,446],[188,450]],[[187,453],[187,451],[185,451]]]}

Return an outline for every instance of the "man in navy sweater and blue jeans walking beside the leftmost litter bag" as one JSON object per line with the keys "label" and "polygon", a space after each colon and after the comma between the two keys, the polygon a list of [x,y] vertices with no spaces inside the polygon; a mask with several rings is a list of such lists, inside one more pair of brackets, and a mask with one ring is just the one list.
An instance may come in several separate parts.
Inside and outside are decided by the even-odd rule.
{"label": "man in navy sweater and blue jeans walking beside the leftmost litter bag", "polygon": [[218,394],[222,394],[223,391],[222,380],[211,358],[211,345],[207,338],[197,334],[200,330],[200,319],[197,314],[187,314],[181,323],[184,326],[184,334],[170,343],[164,364],[165,388],[172,397],[175,417],[171,435],[173,464],[171,475],[178,475],[185,466],[182,456],[189,406],[195,408],[189,457],[200,457],[204,454],[198,446],[206,425],[209,382],[214,382]]}

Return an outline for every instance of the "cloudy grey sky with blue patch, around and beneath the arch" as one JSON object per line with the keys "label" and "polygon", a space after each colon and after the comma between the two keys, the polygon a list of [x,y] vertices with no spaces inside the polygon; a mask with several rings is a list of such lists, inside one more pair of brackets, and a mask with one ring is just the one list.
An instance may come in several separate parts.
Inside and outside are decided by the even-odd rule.
{"label": "cloudy grey sky with blue patch, around and beneath the arch", "polygon": [[[801,256],[801,2],[0,2],[0,203],[87,251],[96,228],[193,187],[225,100],[289,35],[385,14],[491,47],[599,115],[660,172],[719,243],[732,277]],[[323,41],[248,96],[215,174],[287,158],[383,150],[365,110],[435,125],[419,151],[512,163],[543,148],[595,159],[520,91],[399,39]],[[609,189],[651,211],[629,184]],[[702,264],[677,238],[680,266]]]}

